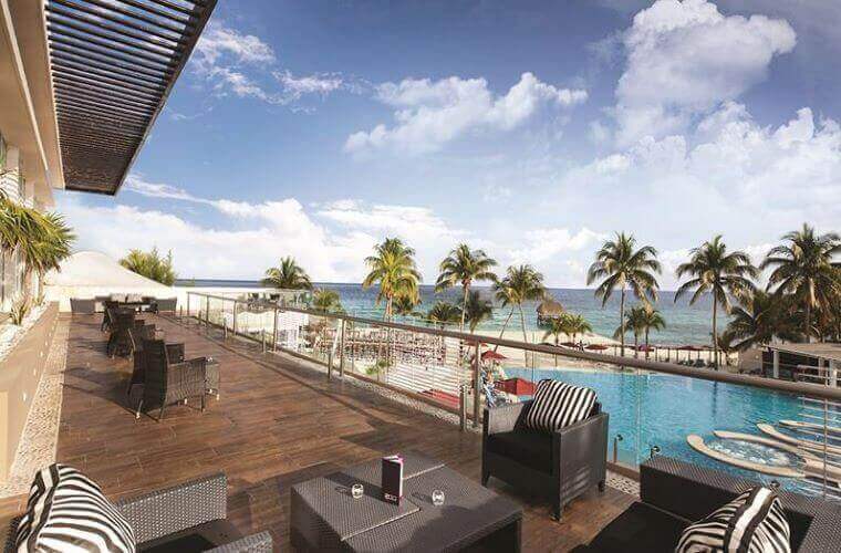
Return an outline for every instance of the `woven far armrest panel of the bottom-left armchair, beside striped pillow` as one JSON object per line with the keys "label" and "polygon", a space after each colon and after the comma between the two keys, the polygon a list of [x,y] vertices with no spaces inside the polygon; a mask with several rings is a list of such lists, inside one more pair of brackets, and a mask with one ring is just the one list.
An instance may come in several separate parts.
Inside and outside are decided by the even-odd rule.
{"label": "woven far armrest panel of the bottom-left armchair, beside striped pillow", "polygon": [[228,480],[219,472],[183,484],[121,500],[116,508],[137,543],[180,532],[228,514]]}

